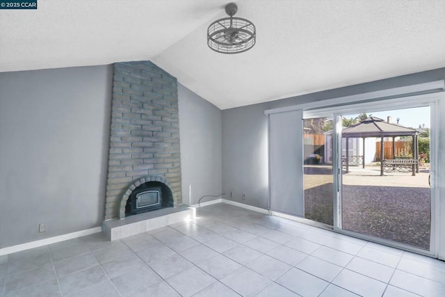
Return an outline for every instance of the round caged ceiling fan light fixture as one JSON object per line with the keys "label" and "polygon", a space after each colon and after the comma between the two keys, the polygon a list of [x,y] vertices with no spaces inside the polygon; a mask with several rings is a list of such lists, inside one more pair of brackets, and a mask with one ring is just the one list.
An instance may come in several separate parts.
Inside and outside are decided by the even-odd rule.
{"label": "round caged ceiling fan light fixture", "polygon": [[238,54],[251,49],[256,42],[255,26],[248,19],[234,17],[238,11],[235,3],[225,6],[229,17],[217,19],[207,29],[207,45],[221,54]]}

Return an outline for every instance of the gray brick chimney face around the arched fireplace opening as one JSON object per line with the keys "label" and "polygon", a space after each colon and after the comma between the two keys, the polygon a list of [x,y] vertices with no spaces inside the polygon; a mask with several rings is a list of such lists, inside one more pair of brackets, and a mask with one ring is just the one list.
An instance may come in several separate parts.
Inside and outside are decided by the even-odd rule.
{"label": "gray brick chimney face around the arched fireplace opening", "polygon": [[177,80],[149,61],[115,63],[105,220],[125,217],[142,182],[162,182],[182,204]]}

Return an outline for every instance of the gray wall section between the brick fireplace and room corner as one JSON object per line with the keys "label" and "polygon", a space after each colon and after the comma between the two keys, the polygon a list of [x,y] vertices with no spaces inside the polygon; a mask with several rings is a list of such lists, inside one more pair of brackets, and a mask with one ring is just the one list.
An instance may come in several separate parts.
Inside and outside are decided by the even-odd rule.
{"label": "gray wall section between the brick fireplace and room corner", "polygon": [[[222,193],[222,112],[180,83],[178,98],[182,202],[197,204],[203,195]],[[201,202],[214,199],[207,197]]]}

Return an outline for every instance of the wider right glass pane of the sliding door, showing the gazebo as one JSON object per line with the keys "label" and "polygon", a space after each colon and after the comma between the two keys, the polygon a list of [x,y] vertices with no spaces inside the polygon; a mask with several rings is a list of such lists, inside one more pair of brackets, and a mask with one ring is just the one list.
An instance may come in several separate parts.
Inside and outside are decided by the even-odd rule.
{"label": "wider right glass pane of the sliding door, showing the gazebo", "polygon": [[341,228],[430,250],[430,107],[343,115],[342,124]]}

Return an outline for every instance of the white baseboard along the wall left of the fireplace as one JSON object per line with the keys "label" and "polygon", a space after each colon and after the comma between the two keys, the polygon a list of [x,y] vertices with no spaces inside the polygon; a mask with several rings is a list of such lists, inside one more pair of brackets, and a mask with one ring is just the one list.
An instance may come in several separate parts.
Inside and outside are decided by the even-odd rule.
{"label": "white baseboard along the wall left of the fireplace", "polygon": [[0,256],[12,254],[13,252],[21,252],[22,250],[29,250],[30,248],[38,248],[40,246],[47,246],[51,243],[58,243],[68,239],[75,239],[77,237],[86,236],[102,232],[102,227],[94,227],[87,230],[81,230],[59,236],[49,237],[47,239],[41,239],[37,241],[31,241],[27,243],[17,244],[17,246],[8,246],[7,248],[0,248]]}

